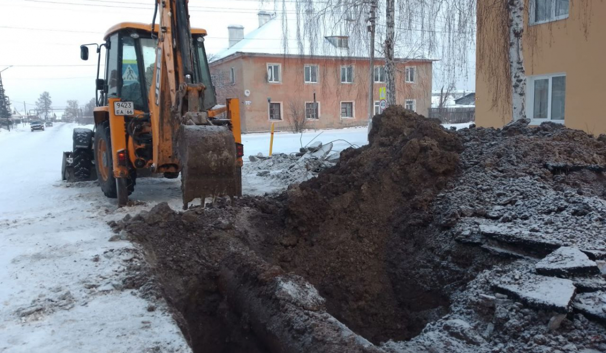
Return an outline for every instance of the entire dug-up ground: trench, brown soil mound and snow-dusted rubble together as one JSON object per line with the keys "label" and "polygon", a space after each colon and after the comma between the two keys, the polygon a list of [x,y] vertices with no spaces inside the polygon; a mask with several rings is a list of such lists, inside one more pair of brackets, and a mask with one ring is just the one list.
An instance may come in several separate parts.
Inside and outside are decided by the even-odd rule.
{"label": "entire dug-up ground: trench, brown soil mound and snow-dusted rubble together", "polygon": [[393,107],[369,140],[279,195],[113,224],[195,352],[606,351],[606,137]]}

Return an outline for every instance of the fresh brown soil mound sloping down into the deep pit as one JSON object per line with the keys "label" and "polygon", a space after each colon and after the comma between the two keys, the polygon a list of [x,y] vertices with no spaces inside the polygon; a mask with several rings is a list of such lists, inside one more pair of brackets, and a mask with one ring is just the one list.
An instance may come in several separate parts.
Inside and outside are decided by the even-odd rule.
{"label": "fresh brown soil mound sloping down into the deep pit", "polygon": [[[451,286],[485,266],[431,226],[431,202],[459,168],[459,139],[401,107],[373,119],[369,144],[288,191],[273,258],[318,286],[328,310],[381,342],[408,339],[448,307]],[[389,309],[385,309],[389,308]]]}

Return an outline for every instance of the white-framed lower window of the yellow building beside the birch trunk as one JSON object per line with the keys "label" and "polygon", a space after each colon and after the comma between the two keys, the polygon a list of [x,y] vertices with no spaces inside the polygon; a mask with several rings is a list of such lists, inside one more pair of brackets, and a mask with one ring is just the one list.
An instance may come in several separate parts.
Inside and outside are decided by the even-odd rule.
{"label": "white-framed lower window of the yellow building beside the birch trunk", "polygon": [[527,116],[540,124],[542,121],[554,120],[564,122],[566,76],[554,74],[528,78]]}

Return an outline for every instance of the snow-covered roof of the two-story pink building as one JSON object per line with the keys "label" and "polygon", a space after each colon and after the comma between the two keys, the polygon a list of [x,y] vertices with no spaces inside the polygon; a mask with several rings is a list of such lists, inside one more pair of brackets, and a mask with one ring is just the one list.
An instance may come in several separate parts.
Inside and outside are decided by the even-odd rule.
{"label": "snow-covered roof of the two-story pink building", "polygon": [[[284,56],[321,56],[338,58],[368,58],[368,38],[367,35],[351,36],[348,33],[346,23],[339,25],[333,23],[330,28],[326,28],[324,22],[318,24],[313,30],[310,24],[302,25],[301,22],[293,21],[296,19],[287,18],[286,21],[278,15],[271,18],[261,27],[255,28],[244,35],[244,39],[237,42],[229,48],[225,48],[215,56],[215,61],[219,61],[235,54],[269,54]],[[298,31],[297,26],[300,27]],[[338,48],[331,37],[348,37],[348,48]],[[225,44],[227,45],[227,40]],[[377,42],[377,45],[380,45]],[[398,53],[399,51],[399,53]],[[398,50],[396,47],[396,58],[409,58],[404,54],[405,48]],[[435,61],[427,59],[425,55],[415,53],[415,61]]]}

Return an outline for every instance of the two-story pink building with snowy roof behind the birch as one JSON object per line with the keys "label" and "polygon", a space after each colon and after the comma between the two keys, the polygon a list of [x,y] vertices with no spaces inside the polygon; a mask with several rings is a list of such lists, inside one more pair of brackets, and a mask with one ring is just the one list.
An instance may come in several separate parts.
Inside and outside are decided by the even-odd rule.
{"label": "two-story pink building with snowy roof behind the birch", "polygon": [[[367,125],[370,67],[367,44],[330,33],[314,48],[284,45],[282,24],[265,12],[259,27],[244,36],[230,25],[230,47],[210,64],[218,101],[240,99],[242,131],[342,128]],[[308,44],[306,44],[308,45]],[[313,52],[312,54],[309,54]],[[430,59],[398,59],[396,101],[420,114],[431,106]],[[385,87],[384,61],[375,60],[375,114]]]}

